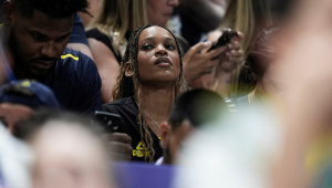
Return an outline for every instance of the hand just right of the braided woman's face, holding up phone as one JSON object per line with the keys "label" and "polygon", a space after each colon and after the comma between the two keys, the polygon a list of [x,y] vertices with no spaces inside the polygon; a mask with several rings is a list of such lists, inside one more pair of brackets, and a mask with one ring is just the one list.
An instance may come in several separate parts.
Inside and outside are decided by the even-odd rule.
{"label": "hand just right of the braided woman's face, holding up phone", "polygon": [[207,52],[211,45],[211,42],[199,42],[190,48],[184,56],[184,73],[189,85],[203,75],[214,72],[215,67],[219,64],[219,60],[216,58],[227,51],[227,46],[225,45]]}

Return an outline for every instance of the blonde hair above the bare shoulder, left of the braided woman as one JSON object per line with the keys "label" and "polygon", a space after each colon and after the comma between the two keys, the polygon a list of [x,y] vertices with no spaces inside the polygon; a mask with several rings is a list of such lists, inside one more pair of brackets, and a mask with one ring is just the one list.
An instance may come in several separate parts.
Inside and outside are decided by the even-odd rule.
{"label": "blonde hair above the bare shoulder, left of the braided woman", "polygon": [[112,39],[115,53],[123,56],[126,33],[148,24],[146,0],[102,0],[100,11],[86,30],[98,29]]}

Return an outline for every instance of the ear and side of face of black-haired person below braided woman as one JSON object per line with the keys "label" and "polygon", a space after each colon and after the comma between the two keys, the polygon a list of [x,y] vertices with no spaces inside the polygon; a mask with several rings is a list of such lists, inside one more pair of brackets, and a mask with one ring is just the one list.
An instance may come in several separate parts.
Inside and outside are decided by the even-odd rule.
{"label": "ear and side of face of black-haired person below braided woman", "polygon": [[163,164],[174,164],[177,158],[177,152],[181,144],[193,130],[193,125],[185,119],[180,126],[172,129],[167,123],[162,125],[162,148],[164,149]]}

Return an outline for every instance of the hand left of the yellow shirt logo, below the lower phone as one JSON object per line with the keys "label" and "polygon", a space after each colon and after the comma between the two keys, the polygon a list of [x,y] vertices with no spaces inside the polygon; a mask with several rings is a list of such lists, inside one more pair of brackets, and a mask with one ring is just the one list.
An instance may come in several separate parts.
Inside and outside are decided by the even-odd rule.
{"label": "hand left of the yellow shirt logo, below the lower phone", "polygon": [[124,133],[106,135],[110,142],[111,155],[114,160],[131,160],[133,155],[132,138]]}

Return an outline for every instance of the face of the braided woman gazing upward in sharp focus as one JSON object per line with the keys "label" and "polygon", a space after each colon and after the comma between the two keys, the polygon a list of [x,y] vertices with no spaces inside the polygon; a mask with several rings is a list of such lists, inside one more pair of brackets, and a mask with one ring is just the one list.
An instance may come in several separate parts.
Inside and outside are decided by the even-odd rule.
{"label": "face of the braided woman gazing upward in sharp focus", "polygon": [[142,83],[176,82],[180,59],[173,35],[160,27],[143,30],[138,38],[137,63]]}

